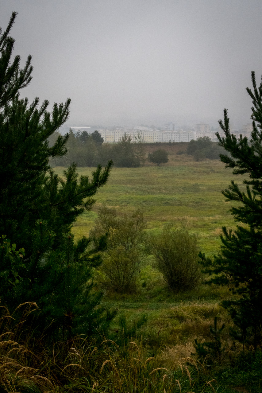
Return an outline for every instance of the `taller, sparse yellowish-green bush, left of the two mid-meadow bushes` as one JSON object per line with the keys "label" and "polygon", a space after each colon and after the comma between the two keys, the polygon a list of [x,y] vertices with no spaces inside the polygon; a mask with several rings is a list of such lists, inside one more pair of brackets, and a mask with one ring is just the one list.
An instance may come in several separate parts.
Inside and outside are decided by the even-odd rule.
{"label": "taller, sparse yellowish-green bush, left of the two mid-meadow bushes", "polygon": [[103,205],[98,210],[91,236],[107,234],[108,248],[99,272],[103,286],[115,292],[134,292],[136,279],[146,255],[146,222],[141,210],[120,216]]}

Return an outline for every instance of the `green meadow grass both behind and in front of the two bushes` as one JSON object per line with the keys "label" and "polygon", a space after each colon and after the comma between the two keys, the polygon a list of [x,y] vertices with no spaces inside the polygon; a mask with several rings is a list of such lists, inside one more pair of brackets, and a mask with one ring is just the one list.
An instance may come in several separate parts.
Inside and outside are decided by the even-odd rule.
{"label": "green meadow grass both behind and in front of the two bushes", "polygon": [[[176,149],[178,147],[176,146]],[[79,174],[91,174],[93,168],[79,168]],[[56,167],[62,176],[64,168]],[[230,214],[231,203],[225,202],[221,190],[227,188],[233,175],[219,160],[196,162],[186,154],[170,151],[169,162],[146,164],[140,168],[113,168],[108,183],[96,195],[92,211],[85,212],[74,224],[76,238],[88,235],[94,225],[99,205],[106,203],[121,212],[141,208],[148,222],[148,232],[157,233],[168,222],[181,224],[198,235],[200,250],[218,252],[221,227],[235,227]],[[242,179],[239,177],[239,183]],[[143,284],[143,286],[142,286]],[[214,316],[231,323],[220,307],[221,299],[229,296],[229,288],[202,285],[197,291],[170,294],[163,278],[148,257],[132,295],[106,294],[105,303],[134,321],[146,313],[148,322],[142,328],[143,340],[150,347],[187,345],[184,354],[192,351],[196,337],[209,336]],[[178,317],[180,315],[180,317]],[[117,329],[117,322],[114,325]]]}

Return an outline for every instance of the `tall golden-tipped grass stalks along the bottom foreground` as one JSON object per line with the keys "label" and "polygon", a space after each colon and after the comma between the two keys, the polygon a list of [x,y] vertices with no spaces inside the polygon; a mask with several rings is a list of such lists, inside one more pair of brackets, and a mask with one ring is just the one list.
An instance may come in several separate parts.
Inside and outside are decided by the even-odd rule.
{"label": "tall golden-tipped grass stalks along the bottom foreground", "polygon": [[[35,303],[18,306],[12,315],[4,306],[0,311],[0,387],[5,389],[3,391],[199,391],[202,365],[191,357],[176,358],[167,365],[163,351],[148,356],[142,339],[132,338],[123,347],[106,338],[94,342],[84,336],[47,343],[44,329],[42,336],[35,340],[28,324],[29,315],[38,311]],[[201,382],[201,389],[208,392],[207,380]]]}

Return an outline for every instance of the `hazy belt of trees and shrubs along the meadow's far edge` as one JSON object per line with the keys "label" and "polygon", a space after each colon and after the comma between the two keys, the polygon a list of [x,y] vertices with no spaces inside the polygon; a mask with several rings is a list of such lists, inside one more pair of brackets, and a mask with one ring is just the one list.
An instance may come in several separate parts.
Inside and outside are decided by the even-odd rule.
{"label": "hazy belt of trees and shrubs along the meadow's far edge", "polygon": [[[52,146],[59,136],[59,132],[55,132],[49,138],[49,145]],[[192,140],[188,143],[144,143],[138,135],[135,140],[130,136],[124,135],[120,141],[115,143],[103,143],[101,134],[95,130],[92,134],[87,131],[73,132],[69,131],[69,138],[66,144],[68,152],[65,156],[52,158],[51,165],[68,166],[75,162],[78,167],[94,167],[97,163],[106,165],[108,160],[112,160],[116,167],[140,167],[144,165],[148,153],[159,149],[166,149],[170,153],[170,145],[178,145],[179,149],[172,149],[176,154],[189,154],[196,161],[202,161],[206,158],[219,159],[219,154],[224,149],[218,146],[218,143],[212,142],[210,138],[198,138],[197,141]],[[150,147],[149,147],[150,145]]]}

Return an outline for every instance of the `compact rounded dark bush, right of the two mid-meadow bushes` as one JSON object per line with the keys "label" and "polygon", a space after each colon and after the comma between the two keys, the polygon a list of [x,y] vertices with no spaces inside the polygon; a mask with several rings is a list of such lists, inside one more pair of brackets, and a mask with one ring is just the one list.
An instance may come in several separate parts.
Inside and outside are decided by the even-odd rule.
{"label": "compact rounded dark bush, right of the two mid-meadow bushes", "polygon": [[151,244],[159,272],[170,290],[186,291],[198,285],[201,274],[195,234],[167,225],[160,235],[152,237]]}

